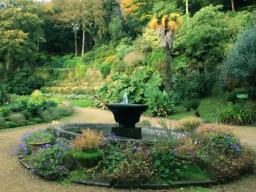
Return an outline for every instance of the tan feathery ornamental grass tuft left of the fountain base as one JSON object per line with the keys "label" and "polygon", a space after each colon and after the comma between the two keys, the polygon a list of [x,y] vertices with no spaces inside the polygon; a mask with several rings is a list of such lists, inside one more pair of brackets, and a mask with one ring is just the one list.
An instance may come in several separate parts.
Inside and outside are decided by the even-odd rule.
{"label": "tan feathery ornamental grass tuft left of the fountain base", "polygon": [[103,132],[97,132],[96,130],[82,129],[83,137],[77,136],[73,139],[73,143],[82,152],[97,152],[99,146],[103,142]]}

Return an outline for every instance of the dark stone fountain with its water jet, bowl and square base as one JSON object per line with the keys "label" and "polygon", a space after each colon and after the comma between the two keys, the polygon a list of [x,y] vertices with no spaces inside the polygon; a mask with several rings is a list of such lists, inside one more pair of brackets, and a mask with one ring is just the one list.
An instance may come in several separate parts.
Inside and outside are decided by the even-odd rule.
{"label": "dark stone fountain with its water jet, bowl and square base", "polygon": [[135,127],[135,124],[140,122],[140,116],[148,110],[148,105],[128,104],[128,97],[125,93],[121,103],[108,103],[106,107],[118,122],[118,126],[111,129],[117,137],[142,139],[141,128]]}

